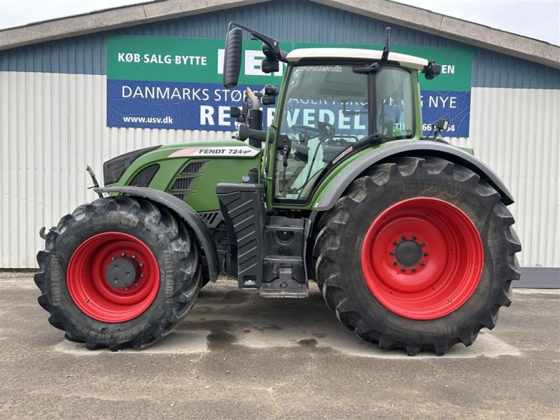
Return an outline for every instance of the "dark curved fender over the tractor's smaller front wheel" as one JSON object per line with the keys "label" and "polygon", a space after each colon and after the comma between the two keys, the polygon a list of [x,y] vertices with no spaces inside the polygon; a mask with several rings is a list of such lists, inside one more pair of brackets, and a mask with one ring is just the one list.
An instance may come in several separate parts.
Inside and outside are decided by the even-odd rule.
{"label": "dark curved fender over the tractor's smaller front wheel", "polygon": [[212,241],[210,232],[200,215],[186,202],[179,200],[179,198],[174,197],[174,195],[147,187],[94,188],[94,191],[96,193],[122,193],[125,195],[134,195],[135,197],[145,197],[174,211],[174,213],[178,214],[179,217],[193,229],[193,232],[195,232],[197,241],[202,247],[202,252],[206,255],[210,280],[216,281],[218,279],[220,266],[218,264],[218,253],[214,246],[214,241]]}

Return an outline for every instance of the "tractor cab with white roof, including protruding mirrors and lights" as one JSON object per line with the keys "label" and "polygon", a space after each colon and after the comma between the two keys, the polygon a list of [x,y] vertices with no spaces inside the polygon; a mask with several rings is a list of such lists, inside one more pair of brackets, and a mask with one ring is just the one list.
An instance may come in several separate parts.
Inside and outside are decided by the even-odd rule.
{"label": "tractor cab with white roof, including protruding mirrors and lights", "polygon": [[232,107],[240,122],[237,139],[256,147],[265,142],[262,177],[269,181],[269,207],[308,207],[319,186],[347,158],[376,144],[421,137],[418,71],[433,78],[439,69],[426,59],[389,52],[390,29],[383,51],[302,48],[286,53],[277,41],[232,22],[226,87],[237,85],[241,28],[263,41],[267,58],[262,71],[277,70],[279,61],[288,64],[283,85],[267,85],[258,94],[263,104],[276,104],[268,132],[262,130],[257,97],[249,100],[253,109]]}

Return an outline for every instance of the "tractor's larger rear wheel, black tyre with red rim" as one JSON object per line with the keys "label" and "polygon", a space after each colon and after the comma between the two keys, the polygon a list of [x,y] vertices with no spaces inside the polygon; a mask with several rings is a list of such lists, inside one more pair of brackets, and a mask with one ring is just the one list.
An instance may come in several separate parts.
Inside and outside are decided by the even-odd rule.
{"label": "tractor's larger rear wheel, black tyre with red rim", "polygon": [[500,195],[439,158],[398,158],[356,179],[321,220],[316,277],[328,307],[381,349],[443,354],[493,328],[521,250]]}

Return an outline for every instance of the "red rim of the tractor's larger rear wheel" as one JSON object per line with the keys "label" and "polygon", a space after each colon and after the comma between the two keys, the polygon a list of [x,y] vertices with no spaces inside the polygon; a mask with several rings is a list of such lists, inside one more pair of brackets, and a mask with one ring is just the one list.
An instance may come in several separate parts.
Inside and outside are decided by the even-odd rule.
{"label": "red rim of the tractor's larger rear wheel", "polygon": [[474,293],[483,265],[475,225],[461,209],[437,198],[415,197],[388,207],[367,230],[362,247],[367,287],[405,318],[451,314]]}

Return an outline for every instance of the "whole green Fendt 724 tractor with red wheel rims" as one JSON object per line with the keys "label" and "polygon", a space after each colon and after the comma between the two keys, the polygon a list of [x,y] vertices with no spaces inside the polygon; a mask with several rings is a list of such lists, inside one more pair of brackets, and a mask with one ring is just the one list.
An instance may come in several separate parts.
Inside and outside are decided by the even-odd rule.
{"label": "whole green Fendt 724 tractor with red wheel rims", "polygon": [[286,53],[231,22],[229,89],[243,31],[262,41],[263,72],[286,64],[281,86],[232,106],[236,139],[120,155],[104,162],[103,187],[90,172],[99,199],[41,230],[35,282],[49,322],[88,349],[140,348],[230,276],[261,297],[307,297],[314,281],[381,349],[470,346],[510,305],[521,245],[498,176],[442,139],[447,120],[423,137],[419,77],[441,65],[391,52],[390,28],[382,50]]}

